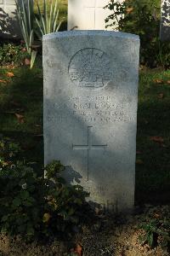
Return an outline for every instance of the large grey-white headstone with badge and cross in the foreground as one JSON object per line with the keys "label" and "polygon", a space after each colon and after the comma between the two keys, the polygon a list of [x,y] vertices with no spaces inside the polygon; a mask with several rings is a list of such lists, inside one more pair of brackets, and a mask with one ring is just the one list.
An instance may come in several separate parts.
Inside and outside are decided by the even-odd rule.
{"label": "large grey-white headstone with badge and cross in the foreground", "polygon": [[133,208],[139,37],[71,31],[43,37],[45,165],[105,211]]}

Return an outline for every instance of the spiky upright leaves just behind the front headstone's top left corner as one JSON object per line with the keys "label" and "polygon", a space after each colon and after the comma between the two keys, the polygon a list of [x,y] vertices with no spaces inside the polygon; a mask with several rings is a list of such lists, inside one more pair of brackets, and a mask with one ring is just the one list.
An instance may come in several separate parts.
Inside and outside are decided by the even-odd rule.
{"label": "spiky upright leaves just behind the front headstone's top left corner", "polygon": [[42,40],[42,36],[51,32],[58,32],[62,20],[59,21],[59,8],[58,0],[52,1],[50,9],[48,10],[48,1],[43,0],[43,10],[41,13],[39,3],[37,2],[38,17],[37,22],[37,35]]}

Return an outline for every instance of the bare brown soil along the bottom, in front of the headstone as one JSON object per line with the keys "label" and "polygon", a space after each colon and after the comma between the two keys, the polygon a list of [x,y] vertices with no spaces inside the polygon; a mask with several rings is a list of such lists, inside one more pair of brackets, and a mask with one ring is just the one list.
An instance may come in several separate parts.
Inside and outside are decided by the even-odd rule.
{"label": "bare brown soil along the bottom, in front of the headstone", "polygon": [[[160,242],[156,247],[147,243],[141,244],[139,236],[144,230],[139,229],[143,219],[162,218],[170,215],[170,206],[153,207],[145,205],[136,207],[129,215],[100,215],[93,224],[82,226],[82,231],[71,237],[70,241],[54,239],[46,244],[34,241],[26,243],[20,237],[0,236],[1,256],[167,256],[167,247],[161,248]],[[82,254],[77,254],[74,247],[79,245]]]}

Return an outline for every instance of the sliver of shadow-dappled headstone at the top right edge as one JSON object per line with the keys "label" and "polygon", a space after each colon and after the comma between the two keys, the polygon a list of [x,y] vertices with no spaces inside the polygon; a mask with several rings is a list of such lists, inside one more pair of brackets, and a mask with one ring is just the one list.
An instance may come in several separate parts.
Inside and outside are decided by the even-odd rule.
{"label": "sliver of shadow-dappled headstone at the top right edge", "polygon": [[161,41],[170,41],[170,0],[161,0]]}

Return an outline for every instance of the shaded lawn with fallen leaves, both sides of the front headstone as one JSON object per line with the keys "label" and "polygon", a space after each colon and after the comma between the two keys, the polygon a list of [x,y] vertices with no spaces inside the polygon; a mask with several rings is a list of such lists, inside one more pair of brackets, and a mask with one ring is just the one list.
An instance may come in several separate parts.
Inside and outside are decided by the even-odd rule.
{"label": "shaded lawn with fallen leaves, both sides of the front headstone", "polygon": [[[43,163],[42,69],[0,69],[0,133],[21,143],[27,160]],[[170,71],[143,71],[139,81],[136,203],[170,199]],[[16,114],[20,114],[17,116]]]}

